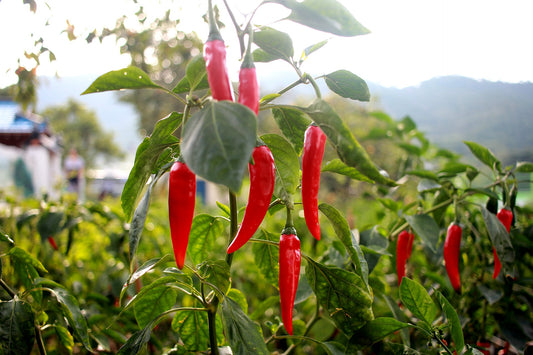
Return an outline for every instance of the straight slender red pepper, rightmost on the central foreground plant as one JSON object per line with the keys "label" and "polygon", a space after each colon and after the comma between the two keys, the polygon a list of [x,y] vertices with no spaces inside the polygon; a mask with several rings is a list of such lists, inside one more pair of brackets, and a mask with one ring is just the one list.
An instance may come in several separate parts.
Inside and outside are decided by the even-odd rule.
{"label": "straight slender red pepper, rightmost on the central foreground plant", "polygon": [[307,228],[320,240],[318,221],[318,189],[320,188],[320,165],[326,147],[326,135],[320,127],[312,124],[305,131],[302,153],[302,204]]}

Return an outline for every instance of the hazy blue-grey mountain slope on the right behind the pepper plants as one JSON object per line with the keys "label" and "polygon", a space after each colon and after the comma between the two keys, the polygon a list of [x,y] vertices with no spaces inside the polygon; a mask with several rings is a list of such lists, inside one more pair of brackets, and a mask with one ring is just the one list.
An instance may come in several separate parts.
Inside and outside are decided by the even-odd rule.
{"label": "hazy blue-grey mountain slope on the right behind the pepper plants", "polygon": [[509,164],[533,160],[533,83],[448,76],[404,89],[369,88],[383,111],[410,116],[439,146],[467,153],[463,141],[475,141]]}

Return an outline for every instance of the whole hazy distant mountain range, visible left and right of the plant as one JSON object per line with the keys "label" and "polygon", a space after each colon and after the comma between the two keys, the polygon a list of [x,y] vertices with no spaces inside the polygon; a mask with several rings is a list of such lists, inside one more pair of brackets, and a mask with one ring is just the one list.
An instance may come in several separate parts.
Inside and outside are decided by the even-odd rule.
{"label": "whole hazy distant mountain range, visible left and right of the plant", "polygon": [[[261,77],[260,82],[265,92],[273,91],[290,84],[291,77],[287,73],[274,73]],[[130,105],[118,101],[116,92],[80,96],[94,79],[44,78],[38,91],[38,109],[65,103],[73,97],[96,111],[103,128],[114,132],[117,143],[125,151],[134,153],[141,141],[137,113]],[[404,89],[368,85],[372,102],[364,106],[372,109],[377,106],[397,119],[410,116],[432,143],[470,154],[463,141],[475,141],[492,149],[506,163],[533,160],[533,83],[510,84],[448,76]],[[329,91],[325,85],[322,87],[324,93]],[[308,86],[298,87],[288,94],[283,102],[313,95],[313,90]]]}

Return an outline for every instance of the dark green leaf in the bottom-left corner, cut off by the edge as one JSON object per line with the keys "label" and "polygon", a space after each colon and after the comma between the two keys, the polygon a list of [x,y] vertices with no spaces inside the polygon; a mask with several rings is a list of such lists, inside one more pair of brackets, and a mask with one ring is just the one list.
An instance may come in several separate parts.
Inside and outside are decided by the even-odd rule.
{"label": "dark green leaf in the bottom-left corner, cut off by the edge", "polygon": [[30,354],[35,343],[34,313],[19,299],[0,301],[0,352]]}

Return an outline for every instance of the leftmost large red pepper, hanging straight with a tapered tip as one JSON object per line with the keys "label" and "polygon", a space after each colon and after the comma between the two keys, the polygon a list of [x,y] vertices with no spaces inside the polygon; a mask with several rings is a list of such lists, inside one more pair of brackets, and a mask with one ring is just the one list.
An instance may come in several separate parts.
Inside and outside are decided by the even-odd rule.
{"label": "leftmost large red pepper, hanging straight with a tapered tip", "polygon": [[174,257],[179,269],[185,264],[195,202],[196,176],[185,163],[177,161],[172,165],[168,179],[168,217]]}

